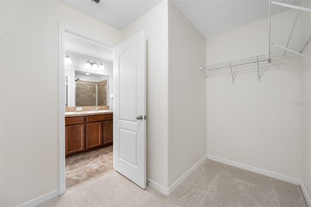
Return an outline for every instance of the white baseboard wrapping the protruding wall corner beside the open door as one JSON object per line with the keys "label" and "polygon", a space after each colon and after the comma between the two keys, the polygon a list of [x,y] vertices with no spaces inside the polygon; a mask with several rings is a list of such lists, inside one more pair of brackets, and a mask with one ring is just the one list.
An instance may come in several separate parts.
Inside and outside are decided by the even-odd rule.
{"label": "white baseboard wrapping the protruding wall corner beside the open door", "polygon": [[182,184],[187,177],[191,173],[193,173],[205,160],[207,159],[207,155],[205,155],[202,159],[200,159],[195,165],[193,165],[185,174],[183,174],[170,188],[165,188],[160,184],[156,183],[155,181],[147,178],[149,181],[149,186],[155,188],[156,190],[160,191],[164,195],[170,195],[180,184]]}

